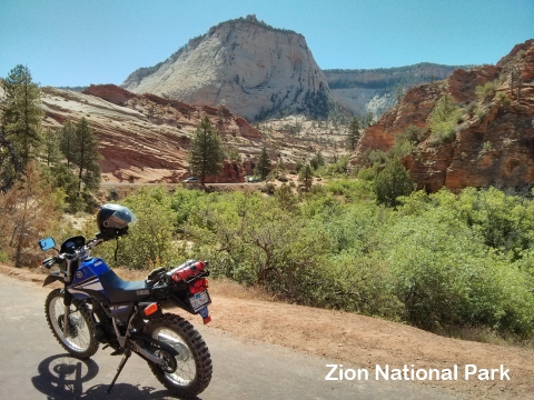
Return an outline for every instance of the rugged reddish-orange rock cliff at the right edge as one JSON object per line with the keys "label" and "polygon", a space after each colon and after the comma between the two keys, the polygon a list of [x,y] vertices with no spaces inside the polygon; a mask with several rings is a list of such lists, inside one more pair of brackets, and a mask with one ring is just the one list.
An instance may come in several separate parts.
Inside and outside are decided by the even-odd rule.
{"label": "rugged reddish-orange rock cliff at the right edge", "polygon": [[[451,140],[436,140],[429,116],[451,96],[458,108]],[[412,126],[411,129],[408,127]],[[409,136],[418,129],[418,138]],[[360,139],[353,158],[409,141],[404,157],[419,189],[528,189],[534,182],[534,40],[517,44],[496,66],[456,70],[447,79],[408,90]]]}

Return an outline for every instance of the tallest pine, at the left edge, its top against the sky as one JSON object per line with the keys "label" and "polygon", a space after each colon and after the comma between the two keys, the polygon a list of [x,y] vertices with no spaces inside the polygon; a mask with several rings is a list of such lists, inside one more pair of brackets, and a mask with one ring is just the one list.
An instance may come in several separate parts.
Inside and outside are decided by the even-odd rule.
{"label": "tallest pine, at the left edge, its top against the sky", "polygon": [[0,81],[0,190],[9,189],[38,156],[41,138],[40,89],[28,67],[17,66]]}

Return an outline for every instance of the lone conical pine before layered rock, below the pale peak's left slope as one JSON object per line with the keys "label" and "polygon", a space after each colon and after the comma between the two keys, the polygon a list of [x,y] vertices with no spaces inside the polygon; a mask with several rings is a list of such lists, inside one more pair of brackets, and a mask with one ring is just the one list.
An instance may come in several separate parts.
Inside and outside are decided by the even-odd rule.
{"label": "lone conical pine before layered rock, below the pale peak's left slope", "polygon": [[219,133],[209,118],[204,117],[191,140],[189,169],[204,184],[208,174],[216,176],[220,172],[224,158]]}

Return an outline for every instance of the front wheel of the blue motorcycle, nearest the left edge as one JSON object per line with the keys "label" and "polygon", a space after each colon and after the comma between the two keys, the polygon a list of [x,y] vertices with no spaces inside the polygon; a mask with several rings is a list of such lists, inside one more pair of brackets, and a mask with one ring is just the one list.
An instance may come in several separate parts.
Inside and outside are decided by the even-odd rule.
{"label": "front wheel of the blue motorcycle, nearest the left edge", "polygon": [[48,294],[44,301],[44,314],[56,340],[71,356],[85,359],[97,352],[98,342],[95,339],[95,322],[89,308],[82,301],[72,299],[67,337],[63,331],[65,304],[62,289],[55,289]]}

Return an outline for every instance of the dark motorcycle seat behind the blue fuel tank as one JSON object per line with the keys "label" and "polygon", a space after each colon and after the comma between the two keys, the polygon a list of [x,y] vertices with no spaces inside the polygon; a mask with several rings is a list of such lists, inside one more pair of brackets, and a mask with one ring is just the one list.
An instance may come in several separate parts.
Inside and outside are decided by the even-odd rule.
{"label": "dark motorcycle seat behind the blue fuel tank", "polygon": [[111,303],[140,301],[152,293],[152,288],[141,281],[125,281],[112,270],[100,276],[106,294]]}

